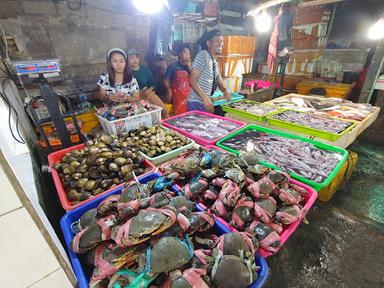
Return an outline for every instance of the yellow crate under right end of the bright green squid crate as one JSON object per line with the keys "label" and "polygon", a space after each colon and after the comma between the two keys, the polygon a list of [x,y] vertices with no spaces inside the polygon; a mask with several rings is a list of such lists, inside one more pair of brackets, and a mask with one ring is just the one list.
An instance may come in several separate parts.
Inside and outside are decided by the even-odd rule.
{"label": "yellow crate under right end of the bright green squid crate", "polygon": [[336,193],[336,191],[341,188],[341,186],[351,177],[353,170],[356,168],[357,160],[359,157],[357,153],[353,151],[348,150],[348,152],[348,159],[341,167],[339,173],[337,173],[337,176],[327,187],[324,187],[320,190],[319,197],[317,198],[320,201],[329,201]]}

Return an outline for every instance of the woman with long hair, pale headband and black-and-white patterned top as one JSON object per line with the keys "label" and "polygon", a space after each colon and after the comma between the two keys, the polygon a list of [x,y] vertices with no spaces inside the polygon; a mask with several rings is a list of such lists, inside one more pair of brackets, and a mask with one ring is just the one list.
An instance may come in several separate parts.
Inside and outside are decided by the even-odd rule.
{"label": "woman with long hair, pale headband and black-and-white patterned top", "polygon": [[100,99],[103,102],[140,101],[139,85],[127,65],[127,54],[120,48],[112,48],[107,54],[107,73],[100,75]]}

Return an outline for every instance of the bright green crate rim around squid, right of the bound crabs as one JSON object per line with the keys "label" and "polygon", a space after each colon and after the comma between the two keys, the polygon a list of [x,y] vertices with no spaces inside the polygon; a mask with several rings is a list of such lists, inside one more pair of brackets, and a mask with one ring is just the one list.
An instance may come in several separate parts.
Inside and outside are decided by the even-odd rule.
{"label": "bright green crate rim around squid, right of the bound crabs", "polygon": [[[244,133],[245,131],[248,131],[248,130],[256,130],[256,131],[259,131],[259,132],[264,132],[264,133],[267,133],[267,134],[274,134],[274,135],[278,135],[278,136],[281,136],[281,137],[285,137],[285,138],[291,138],[291,139],[297,139],[297,140],[300,140],[300,141],[303,141],[303,142],[307,142],[307,143],[311,143],[313,146],[315,146],[316,148],[319,148],[319,149],[322,149],[322,150],[326,150],[326,151],[331,151],[331,152],[336,152],[336,153],[339,153],[341,154],[342,158],[340,159],[339,163],[335,166],[335,168],[332,170],[332,172],[329,174],[329,176],[322,182],[322,183],[317,183],[315,181],[312,181],[312,180],[309,180],[309,179],[306,179],[296,173],[293,173],[293,172],[290,172],[289,174],[292,176],[292,178],[296,179],[296,180],[299,180],[305,184],[308,184],[309,186],[313,187],[316,191],[320,191],[321,189],[323,189],[324,187],[327,187],[331,182],[332,180],[336,177],[337,173],[339,172],[339,170],[342,168],[344,162],[347,160],[348,158],[348,151],[347,150],[344,150],[344,149],[341,149],[339,147],[335,147],[335,146],[331,146],[331,145],[327,145],[327,144],[324,144],[324,143],[321,143],[321,142],[317,142],[317,141],[313,141],[313,140],[310,140],[310,139],[307,139],[307,138],[304,138],[304,137],[300,137],[300,136],[296,136],[296,135],[293,135],[293,134],[289,134],[289,133],[286,133],[286,132],[281,132],[281,131],[278,131],[278,130],[273,130],[273,129],[269,129],[269,128],[265,128],[265,127],[262,127],[262,126],[258,126],[258,125],[248,125],[248,126],[245,126],[244,128],[224,137],[223,139],[219,140],[216,145],[222,149],[225,149],[227,151],[230,151],[232,153],[235,153],[235,154],[240,154],[239,151],[237,150],[234,150],[232,148],[229,148],[225,145],[222,144],[222,142],[226,141],[227,139],[230,139],[238,134],[241,134],[241,133]],[[268,163],[268,162],[265,162],[265,161],[260,161],[261,164],[267,166],[267,167],[270,167],[270,168],[273,168],[273,169],[276,169],[276,170],[281,170],[281,168],[279,168],[278,166],[276,165],[273,165],[271,163]]]}

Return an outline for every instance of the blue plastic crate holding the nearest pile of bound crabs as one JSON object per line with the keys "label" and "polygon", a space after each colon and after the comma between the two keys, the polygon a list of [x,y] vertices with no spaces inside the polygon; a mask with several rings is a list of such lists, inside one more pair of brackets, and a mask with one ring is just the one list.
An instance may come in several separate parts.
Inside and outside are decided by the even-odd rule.
{"label": "blue plastic crate holding the nearest pile of bound crabs", "polygon": [[[140,183],[147,183],[151,180],[154,180],[156,178],[159,178],[161,175],[159,173],[151,173],[146,176],[143,176],[142,178],[139,179]],[[96,208],[105,198],[107,198],[110,195],[114,194],[120,194],[121,190],[123,187],[116,188],[115,190],[111,191],[111,193],[108,193],[104,195],[103,197],[100,197],[98,199],[95,199],[95,201],[88,202],[84,204],[81,207],[78,207],[72,211],[69,211],[66,213],[60,220],[60,226],[61,230],[64,235],[64,240],[65,240],[65,245],[67,247],[68,251],[68,256],[69,259],[72,263],[73,271],[75,272],[75,276],[78,281],[78,287],[79,288],[87,288],[89,287],[89,277],[84,271],[83,265],[80,262],[79,256],[75,254],[70,246],[71,240],[75,236],[71,229],[71,225],[73,222],[76,222],[77,220],[80,219],[80,217],[88,210],[92,208]],[[173,185],[172,190],[176,192],[177,194],[181,194],[180,191],[178,190],[178,186]],[[203,211],[204,209],[200,207],[199,205],[196,205],[196,209],[198,211]],[[222,225],[220,222],[215,221],[215,226],[214,229],[217,232],[217,235],[222,235],[224,233],[228,233],[229,230]],[[256,254],[256,264],[260,267],[260,270],[258,271],[259,277],[257,281],[252,283],[250,285],[250,288],[259,288],[262,287],[265,281],[267,280],[268,277],[268,265],[267,262],[265,261],[264,258]]]}

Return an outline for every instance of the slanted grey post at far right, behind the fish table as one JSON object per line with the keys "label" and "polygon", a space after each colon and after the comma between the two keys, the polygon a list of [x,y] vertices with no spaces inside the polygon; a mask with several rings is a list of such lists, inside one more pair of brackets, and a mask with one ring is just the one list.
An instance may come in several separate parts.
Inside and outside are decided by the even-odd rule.
{"label": "slanted grey post at far right, behind the fish table", "polygon": [[367,77],[365,78],[363,88],[359,96],[359,103],[369,103],[372,93],[375,90],[377,78],[380,76],[381,69],[384,64],[384,39],[376,46],[375,54],[373,54],[371,65],[369,65]]}

